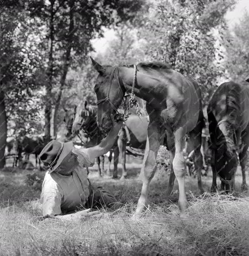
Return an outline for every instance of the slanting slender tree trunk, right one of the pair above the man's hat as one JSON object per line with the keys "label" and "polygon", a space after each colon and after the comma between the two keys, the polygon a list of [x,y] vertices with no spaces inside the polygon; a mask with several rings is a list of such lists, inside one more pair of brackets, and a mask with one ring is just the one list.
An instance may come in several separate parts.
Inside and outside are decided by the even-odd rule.
{"label": "slanting slender tree trunk, right one of the pair above the man's hat", "polygon": [[73,40],[73,33],[74,30],[74,0],[70,2],[70,24],[69,24],[69,31],[68,31],[68,44],[66,46],[66,54],[65,60],[63,64],[63,71],[60,80],[60,89],[58,92],[57,100],[55,102],[55,112],[53,115],[53,136],[57,136],[57,115],[60,106],[61,95],[63,91],[63,87],[65,85],[66,75],[68,73],[68,68],[70,67],[70,56],[71,56],[71,49],[72,49],[72,40]]}

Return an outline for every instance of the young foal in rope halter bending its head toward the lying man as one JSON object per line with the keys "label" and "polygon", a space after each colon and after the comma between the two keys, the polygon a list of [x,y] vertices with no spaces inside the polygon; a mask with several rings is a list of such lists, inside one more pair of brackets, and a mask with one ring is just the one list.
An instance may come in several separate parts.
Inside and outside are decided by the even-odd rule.
{"label": "young foal in rope halter bending its head toward the lying man", "polygon": [[134,216],[141,216],[146,209],[149,184],[153,178],[157,163],[156,157],[161,141],[167,136],[170,149],[171,173],[168,194],[173,190],[175,176],[179,184],[180,216],[186,217],[187,200],[184,188],[186,161],[183,155],[184,138],[188,133],[195,146],[194,164],[197,169],[198,187],[203,192],[200,171],[202,155],[200,153],[204,116],[202,96],[198,84],[184,77],[169,65],[160,62],[140,62],[137,65],[102,66],[92,59],[99,73],[94,86],[97,96],[97,121],[101,129],[110,130],[111,114],[116,120],[122,119],[117,108],[125,92],[146,101],[149,114],[147,128],[149,146],[146,151],[143,185]]}

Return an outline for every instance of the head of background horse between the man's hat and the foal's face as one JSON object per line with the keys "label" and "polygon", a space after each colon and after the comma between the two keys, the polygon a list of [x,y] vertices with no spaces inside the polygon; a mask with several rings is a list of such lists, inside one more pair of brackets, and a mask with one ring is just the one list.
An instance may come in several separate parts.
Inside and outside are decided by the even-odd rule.
{"label": "head of background horse between the man's hat and the foal's face", "polygon": [[72,126],[72,133],[77,134],[80,129],[86,130],[86,132],[91,132],[96,124],[97,109],[95,106],[89,105],[87,101],[80,103],[75,109],[74,121]]}

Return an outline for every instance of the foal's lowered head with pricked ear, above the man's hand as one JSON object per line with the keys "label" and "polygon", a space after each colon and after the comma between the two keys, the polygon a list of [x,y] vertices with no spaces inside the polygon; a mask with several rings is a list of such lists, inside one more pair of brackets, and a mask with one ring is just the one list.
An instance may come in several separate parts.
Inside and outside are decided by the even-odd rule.
{"label": "foal's lowered head with pricked ear, above the man's hand", "polygon": [[92,65],[99,73],[94,86],[97,96],[97,124],[102,130],[110,130],[112,127],[111,114],[118,114],[125,95],[125,88],[118,76],[118,67],[101,66],[92,59]]}

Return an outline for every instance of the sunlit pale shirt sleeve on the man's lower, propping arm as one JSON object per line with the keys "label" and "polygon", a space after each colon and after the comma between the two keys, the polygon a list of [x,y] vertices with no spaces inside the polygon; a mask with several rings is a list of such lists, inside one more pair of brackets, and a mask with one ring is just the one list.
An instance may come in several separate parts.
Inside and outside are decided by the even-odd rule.
{"label": "sunlit pale shirt sleeve on the man's lower, propping arm", "polygon": [[42,203],[43,215],[61,214],[61,189],[58,184],[45,182],[42,186],[40,202]]}

